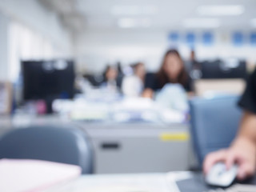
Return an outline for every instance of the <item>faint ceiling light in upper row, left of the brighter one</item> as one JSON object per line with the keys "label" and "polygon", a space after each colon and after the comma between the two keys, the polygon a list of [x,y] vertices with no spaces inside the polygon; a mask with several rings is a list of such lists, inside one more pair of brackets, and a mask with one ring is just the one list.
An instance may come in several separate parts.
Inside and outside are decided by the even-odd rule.
{"label": "faint ceiling light in upper row, left of the brighter one", "polygon": [[114,6],[111,13],[114,15],[138,15],[156,14],[158,8],[154,5],[148,6]]}

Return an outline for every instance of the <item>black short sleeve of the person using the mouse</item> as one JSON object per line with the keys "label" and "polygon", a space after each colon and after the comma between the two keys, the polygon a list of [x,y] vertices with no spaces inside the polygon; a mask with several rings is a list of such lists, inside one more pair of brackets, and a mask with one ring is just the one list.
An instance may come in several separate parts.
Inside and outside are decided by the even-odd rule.
{"label": "black short sleeve of the person using the mouse", "polygon": [[256,114],[256,70],[247,79],[246,90],[242,94],[238,106]]}

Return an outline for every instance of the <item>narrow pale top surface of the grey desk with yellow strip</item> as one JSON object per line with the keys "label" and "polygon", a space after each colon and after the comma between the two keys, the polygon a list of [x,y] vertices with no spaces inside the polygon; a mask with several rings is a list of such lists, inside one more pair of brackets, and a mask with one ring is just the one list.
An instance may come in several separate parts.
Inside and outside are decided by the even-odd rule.
{"label": "narrow pale top surface of the grey desk with yellow strip", "polygon": [[10,128],[15,127],[26,127],[30,125],[66,125],[66,124],[76,124],[76,125],[86,125],[86,129],[114,129],[114,128],[122,128],[122,129],[130,129],[134,128],[162,128],[162,129],[170,129],[170,127],[181,127],[186,128],[188,126],[188,122],[114,122],[114,121],[72,121],[70,118],[58,114],[50,114],[50,115],[29,115],[29,114],[18,114],[14,116],[0,116],[0,131],[8,130]]}

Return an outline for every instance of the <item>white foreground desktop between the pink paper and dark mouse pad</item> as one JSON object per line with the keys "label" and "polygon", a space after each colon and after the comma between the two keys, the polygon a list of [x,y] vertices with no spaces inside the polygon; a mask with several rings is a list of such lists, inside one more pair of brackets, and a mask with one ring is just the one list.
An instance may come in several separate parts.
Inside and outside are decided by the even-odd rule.
{"label": "white foreground desktop between the pink paper and dark mouse pad", "polygon": [[45,192],[179,192],[174,180],[189,175],[188,172],[85,175]]}

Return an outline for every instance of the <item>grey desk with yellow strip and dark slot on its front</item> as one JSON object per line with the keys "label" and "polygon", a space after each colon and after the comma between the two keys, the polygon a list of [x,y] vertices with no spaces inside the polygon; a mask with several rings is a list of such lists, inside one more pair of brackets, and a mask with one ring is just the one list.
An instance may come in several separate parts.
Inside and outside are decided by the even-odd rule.
{"label": "grey desk with yellow strip and dark slot on its front", "polygon": [[5,122],[2,133],[8,130],[8,122],[9,129],[31,124],[75,124],[89,135],[93,144],[95,174],[168,172],[187,170],[190,166],[186,123],[73,122],[58,115],[14,116]]}

